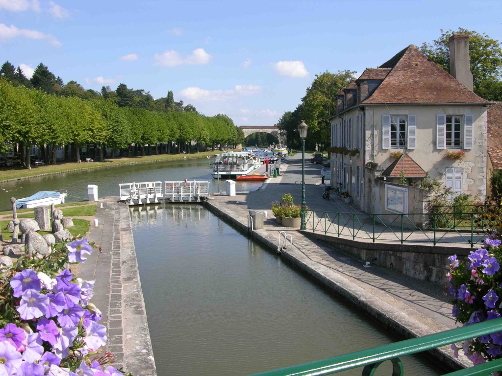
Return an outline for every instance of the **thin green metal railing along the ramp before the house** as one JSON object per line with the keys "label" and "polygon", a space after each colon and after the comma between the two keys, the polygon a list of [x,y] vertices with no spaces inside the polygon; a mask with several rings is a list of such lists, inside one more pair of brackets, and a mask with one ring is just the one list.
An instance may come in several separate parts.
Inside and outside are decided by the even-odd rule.
{"label": "thin green metal railing along the ramp before the house", "polygon": [[[470,244],[473,248],[488,236],[493,225],[481,213],[467,216],[468,229],[459,229],[443,213],[365,214],[310,211],[307,230],[353,240],[413,243]],[[440,226],[438,226],[440,224]]]}

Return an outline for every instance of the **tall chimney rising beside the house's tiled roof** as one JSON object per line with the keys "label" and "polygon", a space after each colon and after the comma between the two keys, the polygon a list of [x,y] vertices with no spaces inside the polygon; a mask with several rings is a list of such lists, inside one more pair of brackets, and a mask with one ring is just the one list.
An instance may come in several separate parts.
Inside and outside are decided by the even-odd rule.
{"label": "tall chimney rising beside the house's tiled roof", "polygon": [[473,90],[469,64],[469,34],[453,34],[450,43],[450,74],[467,89]]}

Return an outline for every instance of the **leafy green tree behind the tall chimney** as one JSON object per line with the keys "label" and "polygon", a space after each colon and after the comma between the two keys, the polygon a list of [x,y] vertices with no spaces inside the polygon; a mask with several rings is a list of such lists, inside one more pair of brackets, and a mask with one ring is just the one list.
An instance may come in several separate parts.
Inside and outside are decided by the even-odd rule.
{"label": "leafy green tree behind the tall chimney", "polygon": [[499,78],[502,73],[502,50],[497,40],[490,38],[485,33],[458,28],[441,30],[441,36],[432,44],[424,42],[420,51],[436,64],[450,71],[450,49],[448,39],[453,33],[469,34],[470,70],[474,83],[474,92],[479,93],[481,83],[489,78]]}

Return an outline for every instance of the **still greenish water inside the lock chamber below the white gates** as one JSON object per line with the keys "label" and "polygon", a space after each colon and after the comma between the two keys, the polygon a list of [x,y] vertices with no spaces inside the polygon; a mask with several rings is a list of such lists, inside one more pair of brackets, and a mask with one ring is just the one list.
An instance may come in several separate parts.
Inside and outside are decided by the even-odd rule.
{"label": "still greenish water inside the lock chamber below the white gates", "polygon": [[[131,214],[160,376],[245,375],[398,340],[200,205]],[[402,361],[407,375],[443,373]]]}

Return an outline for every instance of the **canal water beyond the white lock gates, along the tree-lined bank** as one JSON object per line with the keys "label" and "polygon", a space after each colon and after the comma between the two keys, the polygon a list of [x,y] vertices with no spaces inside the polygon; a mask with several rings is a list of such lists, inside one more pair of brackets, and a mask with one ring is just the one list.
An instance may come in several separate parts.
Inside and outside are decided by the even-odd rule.
{"label": "canal water beyond the white lock gates, along the tree-lined bank", "polygon": [[[37,167],[43,173],[43,167]],[[118,196],[121,182],[165,181],[165,180],[208,180],[211,192],[218,192],[217,180],[211,176],[210,160],[206,158],[186,159],[168,162],[141,163],[117,167],[96,168],[83,171],[60,173],[1,183],[0,211],[11,209],[11,197],[21,199],[39,191],[66,189],[66,202],[87,200],[87,184],[98,186],[98,196]],[[224,180],[220,188],[224,190]],[[238,182],[237,192],[257,190],[262,183]]]}

